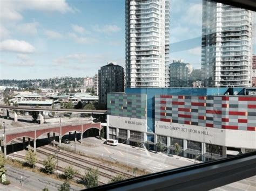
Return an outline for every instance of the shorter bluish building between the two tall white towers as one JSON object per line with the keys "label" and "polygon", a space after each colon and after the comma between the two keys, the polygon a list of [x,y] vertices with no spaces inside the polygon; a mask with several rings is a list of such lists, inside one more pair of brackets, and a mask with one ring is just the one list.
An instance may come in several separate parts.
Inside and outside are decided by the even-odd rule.
{"label": "shorter bluish building between the two tall white towers", "polygon": [[182,60],[173,60],[170,64],[170,87],[191,87],[193,67]]}

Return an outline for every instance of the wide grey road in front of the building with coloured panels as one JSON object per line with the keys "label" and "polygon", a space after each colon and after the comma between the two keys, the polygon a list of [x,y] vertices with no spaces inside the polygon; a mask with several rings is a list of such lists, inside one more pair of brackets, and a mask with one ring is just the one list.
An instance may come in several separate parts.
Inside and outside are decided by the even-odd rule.
{"label": "wide grey road in front of the building with coloured panels", "polygon": [[[85,138],[83,139],[83,144],[77,142],[76,151],[82,151],[89,155],[126,164],[125,144],[110,146],[103,144],[103,142],[104,140],[99,140],[93,137]],[[75,144],[74,142],[71,142],[71,144],[65,146],[74,149]],[[152,173],[194,164],[194,160],[183,157],[177,159],[177,157],[169,157],[160,152],[156,154],[145,151],[144,148],[133,147],[130,145],[128,145],[127,148],[128,165],[143,168]]]}

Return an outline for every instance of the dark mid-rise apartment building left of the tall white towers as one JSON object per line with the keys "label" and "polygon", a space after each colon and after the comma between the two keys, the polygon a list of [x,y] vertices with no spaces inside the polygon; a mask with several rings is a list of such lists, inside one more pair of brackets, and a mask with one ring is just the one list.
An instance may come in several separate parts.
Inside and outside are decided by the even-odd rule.
{"label": "dark mid-rise apartment building left of the tall white towers", "polygon": [[100,67],[99,80],[99,103],[107,103],[107,93],[124,92],[124,68],[110,62]]}

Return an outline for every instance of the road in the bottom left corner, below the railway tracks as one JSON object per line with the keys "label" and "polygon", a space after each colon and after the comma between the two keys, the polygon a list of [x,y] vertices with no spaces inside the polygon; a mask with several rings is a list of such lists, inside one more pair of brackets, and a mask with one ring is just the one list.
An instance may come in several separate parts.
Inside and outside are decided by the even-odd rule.
{"label": "road in the bottom left corner, below the railway tracks", "polygon": [[[43,188],[48,188],[49,190],[58,190],[62,181],[49,178],[47,175],[43,176],[30,171],[25,171],[24,169],[14,168],[10,165],[6,165],[6,179],[11,181],[11,185],[4,186],[0,184],[0,190],[42,190]],[[21,183],[21,176],[23,176],[23,181]],[[70,190],[80,190],[81,187],[70,185]]]}

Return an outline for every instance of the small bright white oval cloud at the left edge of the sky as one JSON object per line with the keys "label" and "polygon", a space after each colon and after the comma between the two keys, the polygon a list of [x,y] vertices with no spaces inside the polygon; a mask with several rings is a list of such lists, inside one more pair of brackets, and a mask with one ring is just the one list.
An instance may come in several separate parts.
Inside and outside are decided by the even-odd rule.
{"label": "small bright white oval cloud at the left edge of the sky", "polygon": [[35,48],[24,40],[8,39],[0,43],[1,51],[32,53]]}

